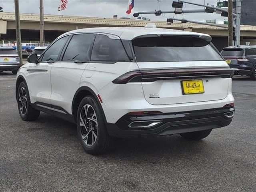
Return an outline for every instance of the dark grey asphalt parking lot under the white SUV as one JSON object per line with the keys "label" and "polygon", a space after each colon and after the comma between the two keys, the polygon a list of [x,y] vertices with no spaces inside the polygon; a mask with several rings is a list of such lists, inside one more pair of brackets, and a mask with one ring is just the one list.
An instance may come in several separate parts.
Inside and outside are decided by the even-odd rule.
{"label": "dark grey asphalt parking lot under the white SUV", "polygon": [[21,120],[15,75],[0,74],[0,191],[256,191],[256,81],[236,77],[232,123],[200,141],[118,139],[86,154],[76,126],[41,113]]}

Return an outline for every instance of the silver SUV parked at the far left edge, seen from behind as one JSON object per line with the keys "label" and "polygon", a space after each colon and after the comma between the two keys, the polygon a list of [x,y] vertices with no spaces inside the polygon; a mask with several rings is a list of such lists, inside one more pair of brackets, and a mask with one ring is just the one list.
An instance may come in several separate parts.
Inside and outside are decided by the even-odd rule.
{"label": "silver SUV parked at the far left edge, seen from behind", "polygon": [[12,71],[12,74],[17,74],[20,67],[20,57],[16,50],[10,46],[0,46],[0,72]]}

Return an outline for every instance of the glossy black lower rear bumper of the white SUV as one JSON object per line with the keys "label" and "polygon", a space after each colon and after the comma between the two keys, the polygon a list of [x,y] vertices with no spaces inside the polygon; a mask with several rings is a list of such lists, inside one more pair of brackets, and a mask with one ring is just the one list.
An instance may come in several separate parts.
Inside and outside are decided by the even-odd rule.
{"label": "glossy black lower rear bumper of the white SUV", "polygon": [[[234,116],[234,107],[197,110],[189,112],[124,115],[115,124],[107,123],[110,136],[161,136],[208,130],[227,126]],[[141,126],[131,127],[131,123]],[[154,126],[144,126],[145,124]]]}

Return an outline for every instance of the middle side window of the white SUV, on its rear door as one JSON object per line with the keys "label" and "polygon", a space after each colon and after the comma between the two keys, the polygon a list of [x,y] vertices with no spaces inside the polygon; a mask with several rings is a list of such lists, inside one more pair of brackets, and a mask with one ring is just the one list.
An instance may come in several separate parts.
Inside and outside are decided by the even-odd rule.
{"label": "middle side window of the white SUV, on its rear door", "polygon": [[65,54],[62,58],[64,61],[88,61],[90,60],[92,44],[95,34],[77,34],[72,37]]}

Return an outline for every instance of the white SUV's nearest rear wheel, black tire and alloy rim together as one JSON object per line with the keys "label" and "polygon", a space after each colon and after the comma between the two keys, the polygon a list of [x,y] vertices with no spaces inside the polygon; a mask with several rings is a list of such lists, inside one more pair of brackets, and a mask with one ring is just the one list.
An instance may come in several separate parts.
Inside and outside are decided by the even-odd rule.
{"label": "white SUV's nearest rear wheel, black tire and alloy rim together", "polygon": [[[80,117],[82,118],[81,121]],[[92,96],[86,96],[80,102],[76,126],[79,141],[87,153],[98,155],[107,153],[112,149],[115,138],[108,135],[100,106]]]}

